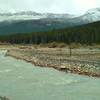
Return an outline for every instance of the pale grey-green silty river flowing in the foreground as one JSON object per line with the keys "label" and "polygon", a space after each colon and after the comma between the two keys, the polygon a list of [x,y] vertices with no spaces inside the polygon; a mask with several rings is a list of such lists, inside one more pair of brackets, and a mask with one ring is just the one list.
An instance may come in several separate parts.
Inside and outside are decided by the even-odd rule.
{"label": "pale grey-green silty river flowing in the foreground", "polygon": [[0,51],[0,96],[10,100],[100,100],[100,79],[66,74],[5,57]]}

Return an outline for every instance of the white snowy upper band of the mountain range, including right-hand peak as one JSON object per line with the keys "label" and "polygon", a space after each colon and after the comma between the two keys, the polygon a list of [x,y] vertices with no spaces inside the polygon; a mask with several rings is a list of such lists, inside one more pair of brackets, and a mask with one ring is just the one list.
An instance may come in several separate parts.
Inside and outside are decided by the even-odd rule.
{"label": "white snowy upper band of the mountain range, including right-hand peak", "polygon": [[71,14],[54,14],[54,13],[37,13],[33,11],[20,11],[20,12],[1,12],[1,21],[12,21],[12,20],[38,20],[44,18],[54,19],[81,19],[82,21],[94,22],[100,20],[100,8],[94,8],[88,10],[84,15],[76,16]]}

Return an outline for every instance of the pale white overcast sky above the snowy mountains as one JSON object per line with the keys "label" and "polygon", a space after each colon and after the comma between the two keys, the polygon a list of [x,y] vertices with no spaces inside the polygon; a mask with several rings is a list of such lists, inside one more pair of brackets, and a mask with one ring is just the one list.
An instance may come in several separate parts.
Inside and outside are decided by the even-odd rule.
{"label": "pale white overcast sky above the snowy mountains", "polygon": [[83,14],[100,7],[100,0],[0,0],[0,11]]}

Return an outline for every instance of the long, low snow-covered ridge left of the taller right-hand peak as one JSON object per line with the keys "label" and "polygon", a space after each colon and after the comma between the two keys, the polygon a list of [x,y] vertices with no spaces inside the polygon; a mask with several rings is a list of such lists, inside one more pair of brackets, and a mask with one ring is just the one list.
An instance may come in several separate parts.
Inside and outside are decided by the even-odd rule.
{"label": "long, low snow-covered ridge left of the taller right-hand peak", "polygon": [[12,20],[38,20],[43,18],[74,18],[74,15],[70,14],[53,14],[53,13],[36,13],[33,11],[20,11],[15,13],[0,13],[0,21],[12,21]]}

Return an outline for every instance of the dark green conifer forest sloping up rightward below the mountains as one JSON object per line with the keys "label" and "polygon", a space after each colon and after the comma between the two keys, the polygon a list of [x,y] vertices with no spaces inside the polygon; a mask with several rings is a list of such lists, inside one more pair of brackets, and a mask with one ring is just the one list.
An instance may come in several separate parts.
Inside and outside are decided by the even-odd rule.
{"label": "dark green conifer forest sloping up rightward below the mountains", "polygon": [[0,36],[1,42],[23,43],[23,44],[40,44],[50,42],[64,42],[93,44],[100,43],[100,22],[95,22],[73,28],[52,30],[49,32],[34,32],[25,34],[12,34]]}

